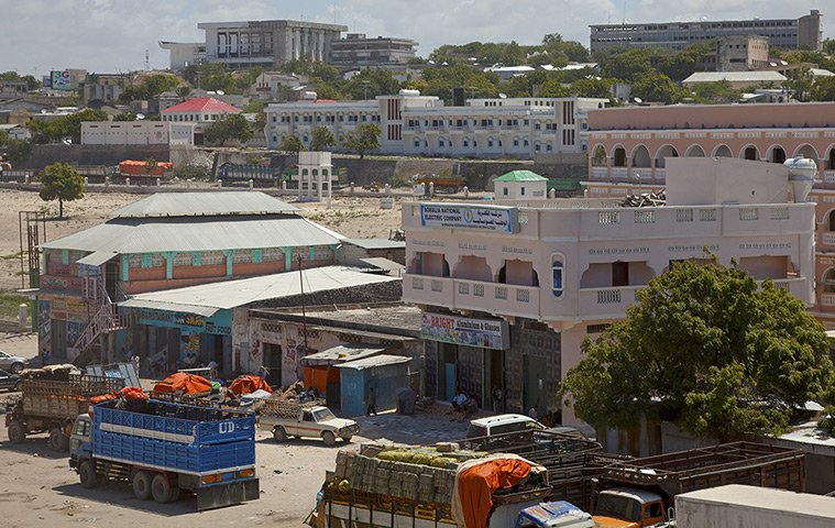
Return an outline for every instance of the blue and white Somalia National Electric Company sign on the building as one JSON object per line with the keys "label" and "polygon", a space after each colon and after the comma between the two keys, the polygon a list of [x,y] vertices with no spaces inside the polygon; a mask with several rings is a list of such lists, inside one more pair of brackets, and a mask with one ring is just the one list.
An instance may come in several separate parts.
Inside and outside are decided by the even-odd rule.
{"label": "blue and white Somalia National Electric Company sign on the building", "polygon": [[428,228],[519,232],[518,209],[502,206],[421,204],[420,223]]}

